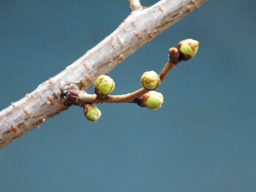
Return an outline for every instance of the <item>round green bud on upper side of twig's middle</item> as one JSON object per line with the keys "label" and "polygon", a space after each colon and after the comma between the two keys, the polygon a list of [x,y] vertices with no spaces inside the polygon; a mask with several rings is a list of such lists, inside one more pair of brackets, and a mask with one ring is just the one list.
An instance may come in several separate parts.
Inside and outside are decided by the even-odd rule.
{"label": "round green bud on upper side of twig's middle", "polygon": [[159,75],[155,71],[147,71],[140,78],[142,87],[147,90],[155,90],[161,83]]}

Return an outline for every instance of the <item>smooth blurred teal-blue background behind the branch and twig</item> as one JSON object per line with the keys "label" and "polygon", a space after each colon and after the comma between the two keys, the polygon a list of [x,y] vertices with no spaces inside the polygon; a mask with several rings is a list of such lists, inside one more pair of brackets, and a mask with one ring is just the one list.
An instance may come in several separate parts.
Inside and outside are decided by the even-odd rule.
{"label": "smooth blurred teal-blue background behind the branch and twig", "polygon": [[[255,0],[209,0],[140,48],[109,73],[113,94],[160,72],[180,40],[200,42],[159,87],[159,110],[102,104],[92,123],[71,107],[1,149],[0,191],[256,191],[255,8]],[[0,0],[0,110],[129,13],[127,0]]]}

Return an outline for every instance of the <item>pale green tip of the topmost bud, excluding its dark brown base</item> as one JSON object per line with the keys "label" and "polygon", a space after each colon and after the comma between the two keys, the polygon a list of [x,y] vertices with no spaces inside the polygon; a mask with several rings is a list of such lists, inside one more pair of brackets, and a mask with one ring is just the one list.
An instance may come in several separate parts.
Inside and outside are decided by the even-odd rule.
{"label": "pale green tip of the topmost bud, excluding its dark brown base", "polygon": [[195,56],[198,50],[199,42],[193,39],[186,39],[180,43],[180,52],[185,55]]}

